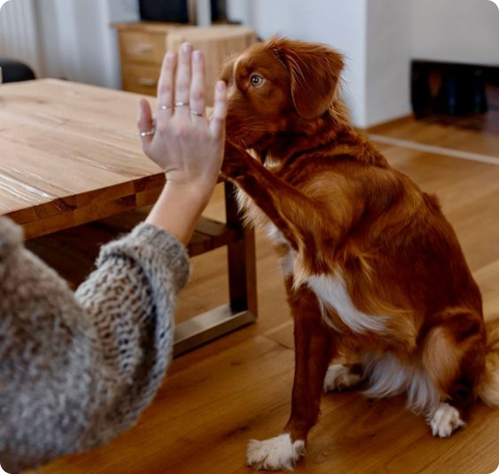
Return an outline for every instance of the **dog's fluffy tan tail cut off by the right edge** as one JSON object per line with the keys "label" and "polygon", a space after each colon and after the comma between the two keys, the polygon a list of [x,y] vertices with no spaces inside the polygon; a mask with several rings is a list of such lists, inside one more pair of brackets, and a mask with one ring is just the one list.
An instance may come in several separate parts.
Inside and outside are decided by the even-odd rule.
{"label": "dog's fluffy tan tail cut off by the right edge", "polygon": [[487,358],[478,395],[491,407],[499,407],[499,317],[486,322]]}

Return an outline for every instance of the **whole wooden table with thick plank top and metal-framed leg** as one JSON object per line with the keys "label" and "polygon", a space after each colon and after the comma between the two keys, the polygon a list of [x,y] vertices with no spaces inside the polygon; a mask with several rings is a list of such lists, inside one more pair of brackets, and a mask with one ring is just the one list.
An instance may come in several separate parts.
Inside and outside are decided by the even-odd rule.
{"label": "whole wooden table with thick plank top and metal-framed leg", "polygon": [[[153,204],[165,177],[141,150],[139,98],[54,79],[2,84],[0,215],[34,239]],[[180,324],[177,352],[256,317],[254,235],[225,186],[227,222],[202,219],[190,251],[227,245],[229,301]]]}

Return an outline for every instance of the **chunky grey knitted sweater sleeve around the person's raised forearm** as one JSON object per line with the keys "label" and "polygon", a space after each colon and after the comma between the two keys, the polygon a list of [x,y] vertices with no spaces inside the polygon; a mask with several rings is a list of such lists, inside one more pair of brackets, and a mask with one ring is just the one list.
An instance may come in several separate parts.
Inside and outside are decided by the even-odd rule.
{"label": "chunky grey knitted sweater sleeve around the person's raised forearm", "polygon": [[103,365],[113,380],[84,441],[92,448],[133,426],[158,389],[171,358],[177,294],[189,274],[185,247],[143,224],[105,245],[76,296],[95,321]]}

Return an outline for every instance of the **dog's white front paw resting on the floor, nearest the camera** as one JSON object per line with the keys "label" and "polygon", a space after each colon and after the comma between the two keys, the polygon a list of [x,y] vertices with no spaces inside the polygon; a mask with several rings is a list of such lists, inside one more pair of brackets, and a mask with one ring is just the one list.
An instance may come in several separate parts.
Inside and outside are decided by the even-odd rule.
{"label": "dog's white front paw resting on the floor, nearest the camera", "polygon": [[284,433],[265,441],[251,440],[248,443],[248,466],[268,471],[292,470],[296,461],[305,455],[303,440],[291,441]]}

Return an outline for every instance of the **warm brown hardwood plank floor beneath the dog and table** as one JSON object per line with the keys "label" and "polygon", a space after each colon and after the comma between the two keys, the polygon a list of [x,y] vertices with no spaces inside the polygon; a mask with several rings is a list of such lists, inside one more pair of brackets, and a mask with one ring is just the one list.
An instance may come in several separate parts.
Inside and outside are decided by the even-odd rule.
{"label": "warm brown hardwood plank floor beneath the dog and table", "polygon": [[[499,136],[405,120],[370,131],[404,142],[499,157]],[[438,193],[483,291],[488,316],[499,313],[499,162],[481,163],[377,143],[394,167]],[[400,145],[400,144],[399,144]],[[207,215],[223,215],[217,191]],[[222,250],[223,251],[223,250]],[[139,424],[92,453],[59,460],[36,474],[240,474],[249,439],[279,433],[287,420],[293,374],[292,324],[280,270],[257,236],[259,321],[173,361]],[[179,318],[225,298],[219,253],[194,261]],[[402,397],[370,401],[328,394],[296,473],[489,474],[499,464],[499,410],[478,403],[468,426],[434,439]]]}

